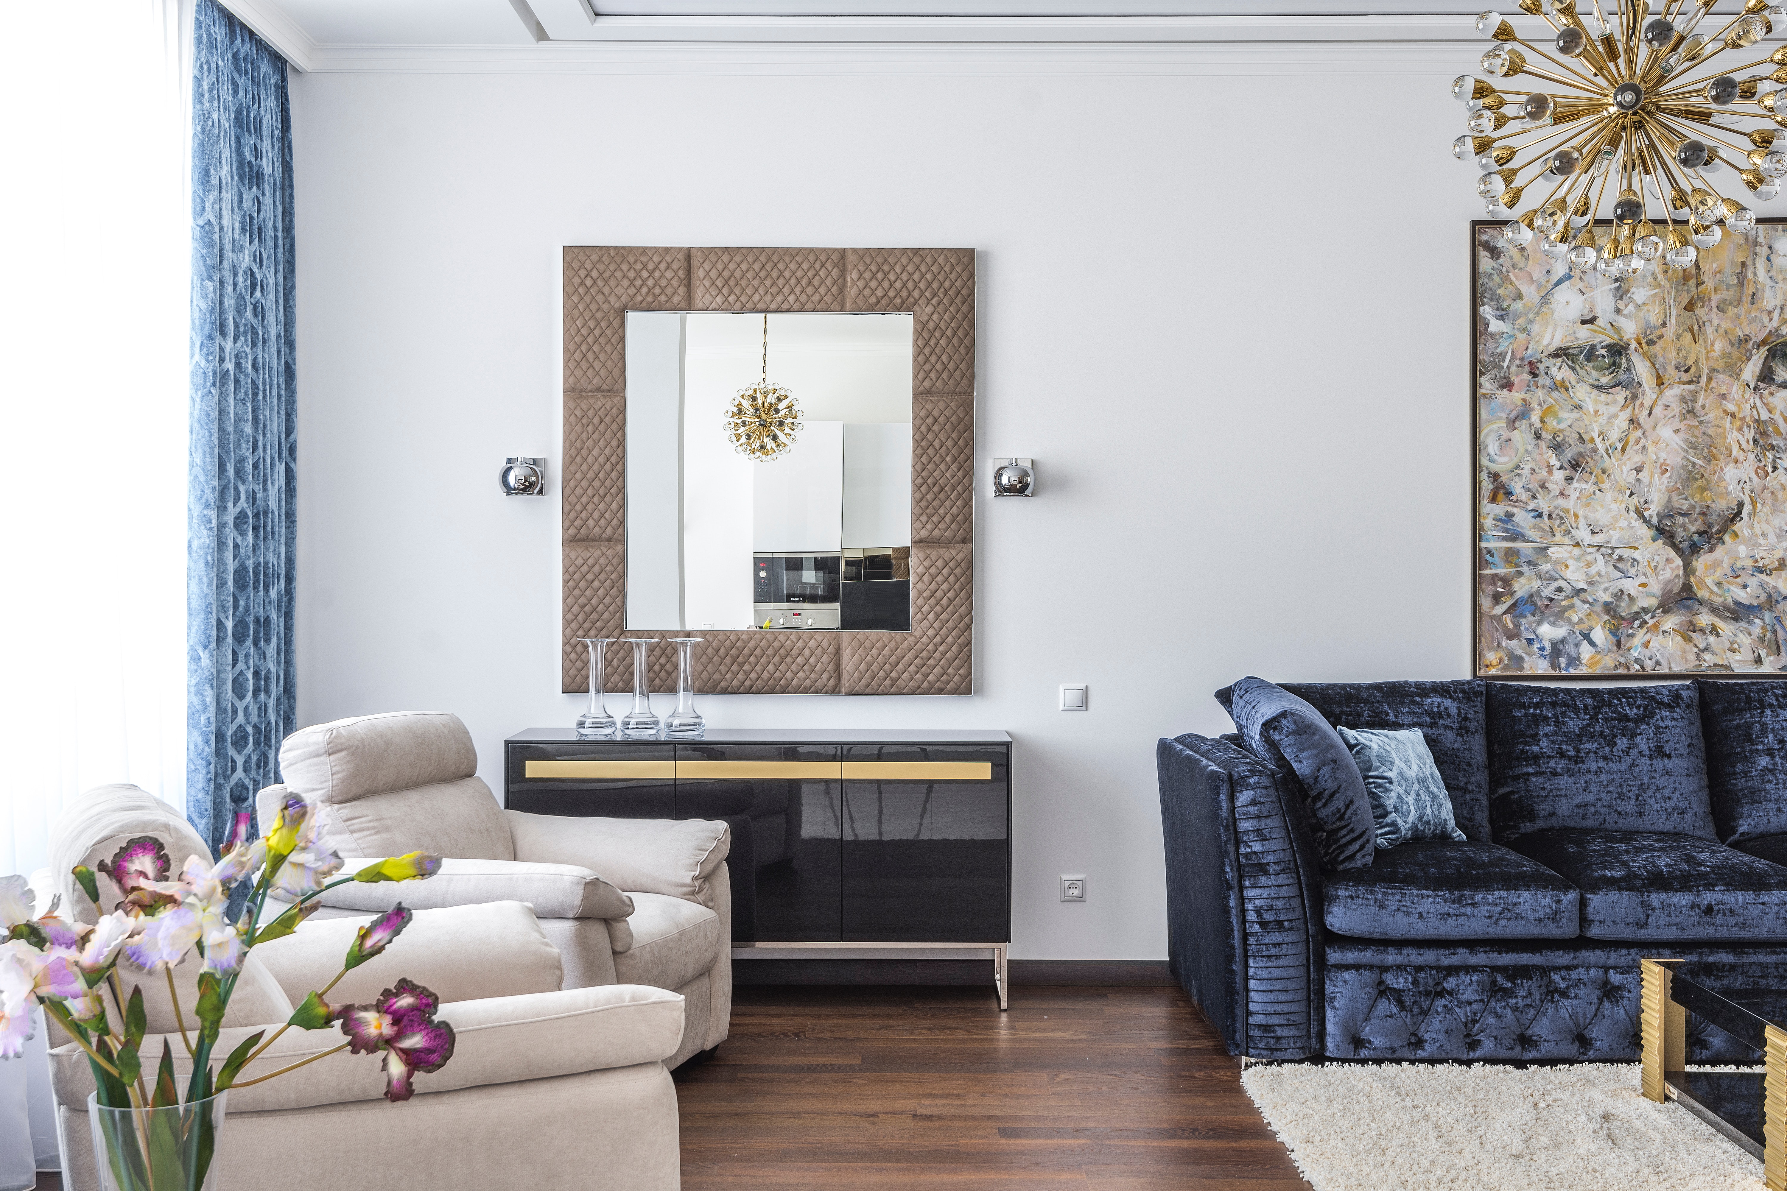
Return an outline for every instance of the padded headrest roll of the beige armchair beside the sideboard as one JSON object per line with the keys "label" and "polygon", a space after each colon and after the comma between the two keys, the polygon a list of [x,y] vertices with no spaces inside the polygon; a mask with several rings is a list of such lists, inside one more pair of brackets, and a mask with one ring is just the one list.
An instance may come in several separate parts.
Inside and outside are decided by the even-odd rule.
{"label": "padded headrest roll of the beige armchair beside the sideboard", "polygon": [[459,716],[390,711],[300,729],[279,746],[286,787],[307,802],[343,804],[477,773],[477,748]]}

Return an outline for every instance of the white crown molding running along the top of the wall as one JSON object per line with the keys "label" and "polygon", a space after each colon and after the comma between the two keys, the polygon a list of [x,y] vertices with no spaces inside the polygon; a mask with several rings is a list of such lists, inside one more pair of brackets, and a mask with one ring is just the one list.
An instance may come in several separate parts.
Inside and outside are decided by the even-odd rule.
{"label": "white crown molding running along the top of the wall", "polygon": [[740,77],[1310,77],[1456,75],[1442,41],[1203,41],[1172,45],[713,45],[318,46],[313,73]]}

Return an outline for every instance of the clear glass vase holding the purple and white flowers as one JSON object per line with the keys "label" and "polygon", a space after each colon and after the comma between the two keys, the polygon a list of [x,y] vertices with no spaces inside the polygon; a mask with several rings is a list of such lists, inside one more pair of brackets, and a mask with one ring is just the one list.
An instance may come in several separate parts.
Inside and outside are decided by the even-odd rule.
{"label": "clear glass vase holding the purple and white flowers", "polygon": [[225,1096],[229,1091],[168,1109],[107,1109],[91,1093],[88,1123],[100,1191],[214,1191],[211,1159]]}

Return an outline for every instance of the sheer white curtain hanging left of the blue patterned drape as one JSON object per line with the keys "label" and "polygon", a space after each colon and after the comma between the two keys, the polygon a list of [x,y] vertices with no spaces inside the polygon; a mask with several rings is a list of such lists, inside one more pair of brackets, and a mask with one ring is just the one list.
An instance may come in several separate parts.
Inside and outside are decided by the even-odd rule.
{"label": "sheer white curtain hanging left of the blue patterned drape", "polygon": [[[0,0],[0,875],[93,786],[186,802],[189,62],[189,0]],[[57,1166],[43,1064],[0,1191]]]}

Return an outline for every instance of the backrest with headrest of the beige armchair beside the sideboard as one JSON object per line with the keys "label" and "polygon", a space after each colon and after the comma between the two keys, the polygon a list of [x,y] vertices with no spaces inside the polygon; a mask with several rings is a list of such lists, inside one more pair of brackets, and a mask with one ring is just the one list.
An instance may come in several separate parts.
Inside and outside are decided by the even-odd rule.
{"label": "backrest with headrest of the beige armchair beside the sideboard", "polygon": [[279,748],[281,786],[261,791],[263,830],[288,793],[318,804],[322,843],[345,857],[434,852],[513,861],[515,841],[459,716],[393,711],[300,729]]}

